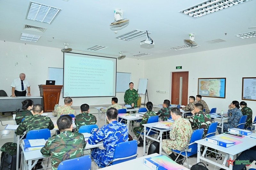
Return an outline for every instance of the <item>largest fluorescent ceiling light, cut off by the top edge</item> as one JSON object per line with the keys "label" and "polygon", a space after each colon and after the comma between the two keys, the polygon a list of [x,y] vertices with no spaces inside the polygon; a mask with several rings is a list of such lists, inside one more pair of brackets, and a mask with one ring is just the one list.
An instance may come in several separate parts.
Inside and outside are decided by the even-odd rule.
{"label": "largest fluorescent ceiling light, cut off by the top edge", "polygon": [[217,12],[229,7],[243,4],[251,0],[208,0],[201,4],[197,4],[191,8],[180,11],[180,13],[185,14],[192,18],[199,18],[213,12]]}

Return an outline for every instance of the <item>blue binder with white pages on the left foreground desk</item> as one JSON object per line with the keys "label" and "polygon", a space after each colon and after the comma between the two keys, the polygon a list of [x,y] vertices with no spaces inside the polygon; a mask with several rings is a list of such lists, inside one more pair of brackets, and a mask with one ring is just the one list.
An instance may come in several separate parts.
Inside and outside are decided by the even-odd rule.
{"label": "blue binder with white pages on the left foreground desk", "polygon": [[23,139],[24,151],[34,151],[41,149],[46,143],[45,139]]}

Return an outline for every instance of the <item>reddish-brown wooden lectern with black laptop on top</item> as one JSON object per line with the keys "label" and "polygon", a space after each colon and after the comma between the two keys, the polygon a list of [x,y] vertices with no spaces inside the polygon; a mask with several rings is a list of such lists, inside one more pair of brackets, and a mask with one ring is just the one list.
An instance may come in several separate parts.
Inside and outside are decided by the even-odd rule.
{"label": "reddish-brown wooden lectern with black laptop on top", "polygon": [[38,85],[40,96],[44,100],[44,112],[52,112],[54,106],[59,104],[60,92],[63,85]]}

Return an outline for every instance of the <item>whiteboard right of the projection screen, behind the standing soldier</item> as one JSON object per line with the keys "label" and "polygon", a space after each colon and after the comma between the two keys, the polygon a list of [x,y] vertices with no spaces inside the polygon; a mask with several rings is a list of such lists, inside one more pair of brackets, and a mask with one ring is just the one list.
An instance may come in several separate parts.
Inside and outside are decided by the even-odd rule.
{"label": "whiteboard right of the projection screen, behind the standing soldier", "polygon": [[131,73],[116,72],[116,92],[125,92],[130,82]]}

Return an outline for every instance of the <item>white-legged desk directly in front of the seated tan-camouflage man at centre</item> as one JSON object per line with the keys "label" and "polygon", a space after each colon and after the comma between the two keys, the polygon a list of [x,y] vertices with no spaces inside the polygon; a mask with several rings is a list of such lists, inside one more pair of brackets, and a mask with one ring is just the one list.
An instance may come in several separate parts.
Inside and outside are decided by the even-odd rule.
{"label": "white-legged desk directly in front of the seated tan-camouflage man at centre", "polygon": [[[167,122],[168,122],[168,121],[164,121],[164,122],[162,122],[162,123],[167,123]],[[162,135],[163,135],[163,132],[170,131],[170,129],[159,129],[159,128],[153,127],[153,126],[155,126],[155,125],[158,124],[158,123],[161,123],[161,122],[143,124],[143,126],[144,126],[143,156],[145,156],[145,154],[146,154],[146,137],[149,138],[149,139],[151,139],[151,140],[154,140],[154,141],[160,143],[160,144],[159,144],[159,154],[160,154],[160,155],[162,154]],[[172,122],[168,122],[168,123],[172,123]],[[147,127],[149,128],[148,132],[146,132],[146,128],[147,128]],[[148,136],[148,133],[149,133],[151,130],[154,131],[154,132],[159,131],[159,133],[156,132],[156,134],[157,134],[157,138],[156,138],[156,139],[153,138],[153,137]]]}

